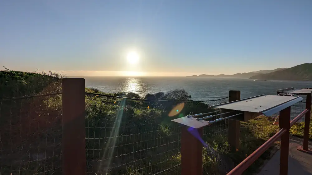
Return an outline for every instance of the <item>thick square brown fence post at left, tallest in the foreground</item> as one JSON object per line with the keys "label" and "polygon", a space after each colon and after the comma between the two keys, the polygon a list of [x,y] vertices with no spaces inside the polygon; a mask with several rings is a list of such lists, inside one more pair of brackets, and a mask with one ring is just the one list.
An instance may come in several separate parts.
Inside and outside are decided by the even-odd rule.
{"label": "thick square brown fence post at left, tallest in the foreground", "polygon": [[62,80],[63,174],[84,175],[85,164],[85,79]]}

